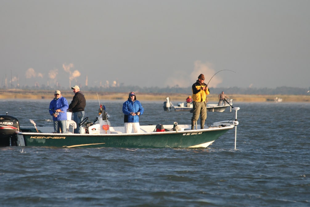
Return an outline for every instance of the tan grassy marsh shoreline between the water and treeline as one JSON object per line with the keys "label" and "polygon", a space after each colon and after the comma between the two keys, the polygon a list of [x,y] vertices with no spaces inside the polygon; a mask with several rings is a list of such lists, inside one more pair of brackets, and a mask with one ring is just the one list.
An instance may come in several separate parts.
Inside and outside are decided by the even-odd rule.
{"label": "tan grassy marsh shoreline between the water and treeline", "polygon": [[[28,100],[51,100],[54,98],[54,91],[25,91],[25,90],[0,90],[0,99],[28,99]],[[62,91],[62,96],[68,100],[72,99],[74,93],[72,91]],[[128,93],[114,93],[114,92],[93,92],[82,91],[86,100],[127,100]],[[97,96],[98,94],[98,96]],[[183,102],[186,98],[192,95],[191,93],[139,93],[137,92],[137,99],[140,101],[166,101],[169,97],[172,102]],[[245,94],[227,94],[232,102],[270,102],[274,101],[275,97],[281,98],[282,102],[310,102],[310,96],[306,95],[245,95]],[[208,101],[216,102],[218,94],[210,94],[207,96]]]}

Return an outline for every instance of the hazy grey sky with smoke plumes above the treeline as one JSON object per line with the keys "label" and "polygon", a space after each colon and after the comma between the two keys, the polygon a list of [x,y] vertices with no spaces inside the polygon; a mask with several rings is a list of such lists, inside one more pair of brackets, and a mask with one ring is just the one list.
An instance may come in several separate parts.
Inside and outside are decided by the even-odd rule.
{"label": "hazy grey sky with smoke plumes above the treeline", "polygon": [[[310,87],[309,0],[0,0],[1,86]],[[228,71],[232,70],[232,71]],[[11,78],[12,77],[12,78]],[[82,90],[82,89],[81,89]]]}

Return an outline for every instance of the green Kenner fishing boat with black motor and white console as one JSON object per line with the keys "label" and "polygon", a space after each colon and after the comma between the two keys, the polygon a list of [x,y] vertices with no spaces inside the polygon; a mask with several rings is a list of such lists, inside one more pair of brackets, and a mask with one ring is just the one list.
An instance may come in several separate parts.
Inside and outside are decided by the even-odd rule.
{"label": "green Kenner fishing boat with black motor and white console", "polygon": [[[228,130],[237,130],[236,119],[221,121],[205,126],[204,129],[191,125],[140,126],[140,133],[124,133],[124,126],[112,127],[104,111],[93,122],[88,118],[82,120],[82,134],[74,134],[76,123],[67,120],[66,133],[53,133],[53,127],[20,127],[15,117],[0,115],[1,144],[5,146],[40,146],[40,147],[123,147],[123,148],[198,148],[211,145],[217,138]],[[31,120],[31,119],[30,119]],[[72,128],[72,130],[71,130]],[[72,131],[72,132],[71,132]],[[236,133],[235,133],[236,134]],[[236,135],[235,135],[236,136]],[[236,139],[236,137],[235,137]]]}

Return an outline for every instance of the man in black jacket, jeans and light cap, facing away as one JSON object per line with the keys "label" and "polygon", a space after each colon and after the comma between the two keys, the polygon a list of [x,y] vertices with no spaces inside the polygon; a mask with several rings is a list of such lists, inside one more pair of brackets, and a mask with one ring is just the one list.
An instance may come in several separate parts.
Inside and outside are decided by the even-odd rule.
{"label": "man in black jacket, jeans and light cap, facing away", "polygon": [[80,87],[73,86],[71,87],[71,89],[73,90],[74,96],[69,105],[69,111],[72,112],[73,121],[75,121],[75,123],[77,124],[77,128],[74,129],[74,133],[81,134],[82,128],[79,126],[79,124],[84,118],[86,99],[84,97],[84,94],[80,91]]}

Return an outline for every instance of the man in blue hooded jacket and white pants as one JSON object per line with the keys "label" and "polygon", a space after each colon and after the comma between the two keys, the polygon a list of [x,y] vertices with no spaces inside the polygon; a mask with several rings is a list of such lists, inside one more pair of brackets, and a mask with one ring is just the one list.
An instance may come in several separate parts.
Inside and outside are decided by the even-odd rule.
{"label": "man in blue hooded jacket and white pants", "polygon": [[128,100],[123,103],[125,133],[140,133],[139,116],[143,114],[143,106],[137,100],[135,92],[129,93]]}

